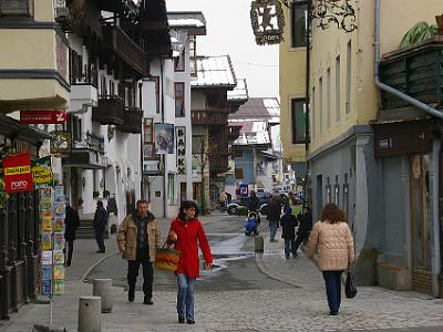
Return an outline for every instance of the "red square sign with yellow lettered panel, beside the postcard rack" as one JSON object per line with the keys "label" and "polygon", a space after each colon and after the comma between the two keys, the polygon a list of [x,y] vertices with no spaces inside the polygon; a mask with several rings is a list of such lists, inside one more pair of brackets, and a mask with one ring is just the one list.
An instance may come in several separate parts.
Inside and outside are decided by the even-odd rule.
{"label": "red square sign with yellow lettered panel, beside the postcard rack", "polygon": [[29,153],[3,159],[3,181],[6,193],[30,191],[33,189]]}

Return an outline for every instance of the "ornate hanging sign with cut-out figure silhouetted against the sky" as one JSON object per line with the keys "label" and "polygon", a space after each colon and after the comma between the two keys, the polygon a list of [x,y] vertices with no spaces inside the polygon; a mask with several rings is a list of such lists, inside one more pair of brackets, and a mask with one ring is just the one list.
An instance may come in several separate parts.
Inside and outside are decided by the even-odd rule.
{"label": "ornate hanging sign with cut-out figure silhouetted against the sky", "polygon": [[250,22],[257,44],[278,44],[284,40],[285,15],[279,0],[253,1]]}

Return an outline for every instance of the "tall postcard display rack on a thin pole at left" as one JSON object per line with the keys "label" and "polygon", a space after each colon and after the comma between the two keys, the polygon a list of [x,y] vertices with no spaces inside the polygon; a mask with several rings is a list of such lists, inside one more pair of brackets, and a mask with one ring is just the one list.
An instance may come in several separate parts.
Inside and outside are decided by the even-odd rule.
{"label": "tall postcard display rack on a thin pole at left", "polygon": [[50,299],[50,324],[52,325],[53,295],[64,293],[64,217],[65,196],[63,187],[40,189],[41,217],[41,294]]}

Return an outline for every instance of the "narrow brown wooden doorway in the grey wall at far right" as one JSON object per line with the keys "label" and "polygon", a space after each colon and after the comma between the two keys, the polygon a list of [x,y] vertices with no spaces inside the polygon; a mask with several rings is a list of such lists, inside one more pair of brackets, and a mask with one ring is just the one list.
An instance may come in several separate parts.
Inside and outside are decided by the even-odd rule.
{"label": "narrow brown wooden doorway in the grey wall at far right", "polygon": [[432,294],[430,155],[410,157],[412,287]]}

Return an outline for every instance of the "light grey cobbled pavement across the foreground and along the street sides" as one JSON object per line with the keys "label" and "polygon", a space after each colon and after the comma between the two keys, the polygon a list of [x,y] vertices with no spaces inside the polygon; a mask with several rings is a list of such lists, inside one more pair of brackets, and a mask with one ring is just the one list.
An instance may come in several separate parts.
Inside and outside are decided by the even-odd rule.
{"label": "light grey cobbled pavement across the foreground and along the street sides", "polygon": [[[265,253],[257,256],[259,268],[269,277],[293,287],[198,292],[197,283],[197,323],[193,326],[177,324],[175,292],[154,290],[155,304],[151,307],[142,304],[142,292],[136,292],[135,301],[128,303],[127,293],[114,288],[113,312],[102,314],[103,331],[372,331],[443,326],[442,300],[378,287],[360,287],[356,299],[343,299],[338,317],[329,317],[323,280],[315,264],[303,255],[286,260],[281,240],[277,243],[265,242]],[[110,239],[106,245],[110,250],[115,249],[113,243],[115,239]],[[76,331],[79,297],[92,294],[92,286],[82,282],[79,276],[103,258],[94,253],[96,245],[93,240],[78,240],[75,245],[66,294],[54,300],[54,326],[63,326],[68,331]],[[22,307],[11,321],[3,322],[0,331],[31,331],[33,324],[47,325],[48,322],[49,305],[29,304]],[[443,331],[443,328],[439,330]]]}

